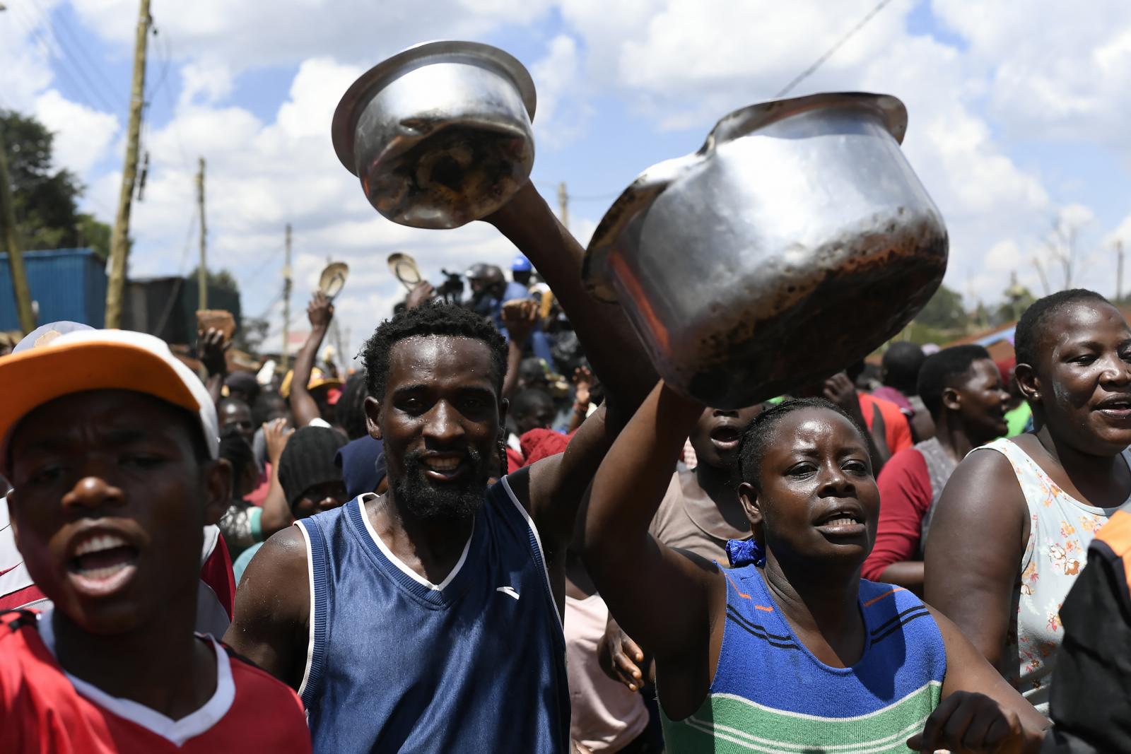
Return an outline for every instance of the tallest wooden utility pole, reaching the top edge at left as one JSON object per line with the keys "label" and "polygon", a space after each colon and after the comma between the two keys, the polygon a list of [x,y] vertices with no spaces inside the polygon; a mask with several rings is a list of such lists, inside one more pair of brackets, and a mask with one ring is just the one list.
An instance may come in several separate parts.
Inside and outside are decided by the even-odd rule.
{"label": "tallest wooden utility pole, reaching the top edge at left", "polygon": [[138,175],[138,140],[141,136],[141,111],[145,107],[145,55],[149,40],[149,0],[141,0],[138,31],[133,41],[133,87],[130,95],[130,124],[126,139],[126,165],[122,167],[122,190],[118,197],[118,217],[110,236],[110,281],[106,285],[106,327],[122,323],[122,289],[126,287],[126,254],[130,241],[130,201]]}

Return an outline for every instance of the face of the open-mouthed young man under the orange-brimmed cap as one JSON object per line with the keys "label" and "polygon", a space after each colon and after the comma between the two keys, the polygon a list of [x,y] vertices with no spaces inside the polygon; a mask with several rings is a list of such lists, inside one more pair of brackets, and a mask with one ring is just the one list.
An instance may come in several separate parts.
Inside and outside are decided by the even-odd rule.
{"label": "face of the open-mouthed young man under the orange-brimmed cap", "polygon": [[195,603],[201,528],[227,506],[231,469],[197,458],[190,421],[150,396],[94,390],[44,404],[12,434],[16,545],[85,631],[123,633]]}

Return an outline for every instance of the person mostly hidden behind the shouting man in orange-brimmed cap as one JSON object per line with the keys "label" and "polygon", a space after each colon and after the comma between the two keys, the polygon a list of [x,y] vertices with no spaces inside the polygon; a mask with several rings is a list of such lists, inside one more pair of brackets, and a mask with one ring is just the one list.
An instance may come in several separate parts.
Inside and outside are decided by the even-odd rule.
{"label": "person mostly hidden behind the shouting man in orange-brimmed cap", "polygon": [[[50,322],[29,332],[14,353],[46,346],[68,332],[93,330],[79,322]],[[221,636],[232,622],[235,601],[235,581],[232,578],[232,558],[216,526],[204,527],[204,546],[200,553],[200,583],[197,593],[197,624],[200,633]],[[45,609],[50,600],[32,580],[24,556],[16,547],[8,505],[0,500],[0,610],[35,607]]]}

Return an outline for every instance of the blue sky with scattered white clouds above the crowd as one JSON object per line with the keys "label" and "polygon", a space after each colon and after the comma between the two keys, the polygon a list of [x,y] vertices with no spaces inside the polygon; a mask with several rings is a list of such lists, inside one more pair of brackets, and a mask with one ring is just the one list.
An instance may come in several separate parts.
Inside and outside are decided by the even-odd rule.
{"label": "blue sky with scattered white clouds above the crowd", "polygon": [[[60,166],[116,203],[135,0],[5,0],[0,106],[58,133]],[[948,284],[995,301],[1033,260],[1063,284],[1054,223],[1078,239],[1073,284],[1114,293],[1116,237],[1131,241],[1131,6],[1082,14],[1051,0],[892,0],[794,95],[879,90],[910,113],[905,151],[951,231]],[[385,268],[409,251],[425,274],[512,250],[489,227],[391,226],[333,156],[329,115],[356,75],[416,42],[461,37],[515,54],[538,87],[536,185],[572,197],[582,242],[644,168],[698,149],[731,110],[774,93],[875,6],[874,0],[154,0],[146,201],[135,208],[131,272],[195,263],[192,172],[209,165],[209,246],[243,287],[244,311],[276,322],[283,225],[295,226],[303,307],[327,257],[354,277],[339,318],[356,344],[397,298]],[[188,253],[187,253],[187,250]],[[269,306],[270,304],[270,306]],[[295,329],[303,329],[300,320]]]}

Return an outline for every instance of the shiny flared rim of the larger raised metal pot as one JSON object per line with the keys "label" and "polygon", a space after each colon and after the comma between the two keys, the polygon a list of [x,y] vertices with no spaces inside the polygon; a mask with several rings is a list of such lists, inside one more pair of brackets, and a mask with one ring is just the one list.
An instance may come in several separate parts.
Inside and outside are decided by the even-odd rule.
{"label": "shiny flared rim of the larger raised metal pot", "polygon": [[589,295],[605,303],[618,303],[616,291],[603,274],[605,259],[632,219],[651,206],[684,164],[698,162],[714,151],[717,144],[732,141],[779,120],[830,105],[852,105],[878,112],[888,132],[898,144],[903,144],[907,132],[907,107],[890,94],[827,92],[772,99],[735,110],[719,119],[698,151],[647,168],[610,206],[589,241],[581,263],[581,283]]}

